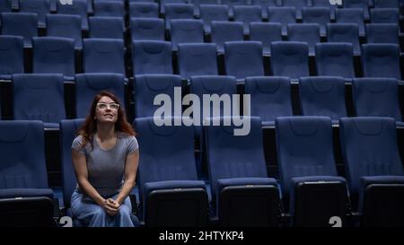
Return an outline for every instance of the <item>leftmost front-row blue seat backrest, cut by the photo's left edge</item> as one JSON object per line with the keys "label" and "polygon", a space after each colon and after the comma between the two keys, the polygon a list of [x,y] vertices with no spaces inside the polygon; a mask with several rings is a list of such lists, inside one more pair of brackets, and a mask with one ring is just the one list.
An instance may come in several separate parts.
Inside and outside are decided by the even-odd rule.
{"label": "leftmost front-row blue seat backrest, cut by the photo's left edge", "polygon": [[0,189],[48,188],[43,123],[0,121]]}

